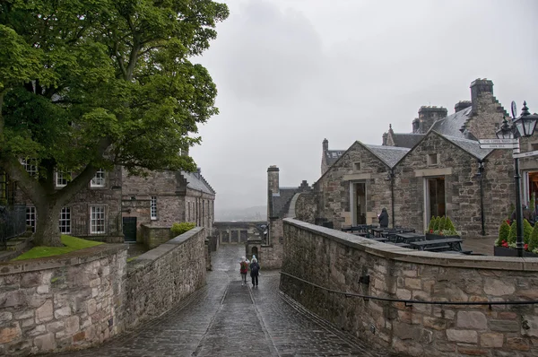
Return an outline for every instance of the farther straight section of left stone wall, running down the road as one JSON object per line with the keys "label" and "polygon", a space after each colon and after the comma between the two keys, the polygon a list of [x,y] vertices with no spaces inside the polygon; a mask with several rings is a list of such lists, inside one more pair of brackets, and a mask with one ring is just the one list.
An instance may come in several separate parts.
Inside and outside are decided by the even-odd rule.
{"label": "farther straight section of left stone wall, running down the road", "polygon": [[205,232],[195,227],[134,259],[126,274],[122,324],[160,316],[205,284]]}

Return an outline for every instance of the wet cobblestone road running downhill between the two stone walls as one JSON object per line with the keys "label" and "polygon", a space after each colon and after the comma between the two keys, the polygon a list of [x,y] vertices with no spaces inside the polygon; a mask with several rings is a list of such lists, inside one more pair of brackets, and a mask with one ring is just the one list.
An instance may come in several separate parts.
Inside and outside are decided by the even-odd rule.
{"label": "wet cobblestone road running downhill between the two stone walls", "polygon": [[243,247],[213,253],[207,285],[175,309],[97,348],[55,356],[364,356],[357,341],[285,299],[279,274],[261,271],[260,284],[242,286]]}

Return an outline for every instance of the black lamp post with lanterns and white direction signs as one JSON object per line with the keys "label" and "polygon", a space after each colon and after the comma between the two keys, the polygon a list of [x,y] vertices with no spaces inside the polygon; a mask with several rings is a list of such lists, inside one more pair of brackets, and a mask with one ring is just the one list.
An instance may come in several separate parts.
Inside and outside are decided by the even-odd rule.
{"label": "black lamp post with lanterns and white direction signs", "polygon": [[523,102],[523,108],[521,109],[521,116],[516,118],[516,103],[512,101],[512,125],[508,125],[508,121],[505,118],[502,122],[496,135],[499,139],[516,139],[512,155],[514,156],[514,179],[516,180],[516,226],[517,226],[517,240],[516,249],[517,257],[523,257],[523,210],[521,209],[521,175],[519,175],[519,138],[529,137],[534,134],[534,128],[536,127],[536,120],[538,115],[531,114],[526,106],[526,101]]}

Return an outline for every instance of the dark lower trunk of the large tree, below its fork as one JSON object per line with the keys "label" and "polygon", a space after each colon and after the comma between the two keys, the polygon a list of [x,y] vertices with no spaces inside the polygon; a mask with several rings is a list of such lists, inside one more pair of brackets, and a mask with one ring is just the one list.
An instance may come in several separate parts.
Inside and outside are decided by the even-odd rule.
{"label": "dark lower trunk of the large tree, below its fork", "polygon": [[56,202],[46,202],[45,205],[36,205],[36,232],[34,244],[36,246],[63,247],[60,239],[58,220],[60,208]]}

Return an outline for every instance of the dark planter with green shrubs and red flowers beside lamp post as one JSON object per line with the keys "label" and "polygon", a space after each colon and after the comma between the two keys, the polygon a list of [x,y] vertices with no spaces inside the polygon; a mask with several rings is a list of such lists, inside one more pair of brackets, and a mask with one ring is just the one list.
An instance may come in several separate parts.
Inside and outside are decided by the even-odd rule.
{"label": "dark planter with green shrubs and red flowers beside lamp post", "polygon": [[[493,254],[497,257],[517,257],[516,249],[517,224],[516,221],[508,226],[504,221],[499,227],[499,238],[495,241]],[[527,220],[523,220],[523,257],[538,257],[538,224],[531,226]]]}

